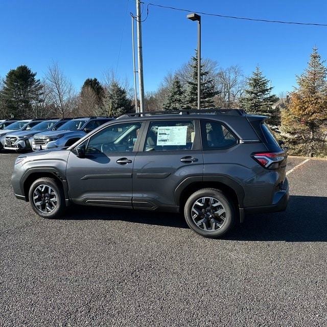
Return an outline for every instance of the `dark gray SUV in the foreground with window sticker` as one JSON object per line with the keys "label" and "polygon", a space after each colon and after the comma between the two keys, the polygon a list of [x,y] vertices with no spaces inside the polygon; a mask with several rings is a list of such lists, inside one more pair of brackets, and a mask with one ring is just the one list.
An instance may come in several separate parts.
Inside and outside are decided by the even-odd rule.
{"label": "dark gray SUV in the foreground with window sticker", "polygon": [[287,151],[267,117],[238,109],[124,115],[66,149],[17,157],[12,185],[44,218],[69,203],[180,212],[208,238],[286,209]]}

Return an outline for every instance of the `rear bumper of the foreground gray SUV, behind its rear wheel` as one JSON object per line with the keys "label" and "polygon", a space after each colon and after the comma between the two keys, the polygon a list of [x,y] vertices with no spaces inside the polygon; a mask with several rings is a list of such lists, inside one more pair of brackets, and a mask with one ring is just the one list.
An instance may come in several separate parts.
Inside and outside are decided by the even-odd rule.
{"label": "rear bumper of the foreground gray SUV, behind its rear wheel", "polygon": [[289,195],[288,180],[285,179],[283,190],[275,193],[273,203],[270,205],[254,206],[244,208],[245,214],[263,214],[285,211],[287,208]]}

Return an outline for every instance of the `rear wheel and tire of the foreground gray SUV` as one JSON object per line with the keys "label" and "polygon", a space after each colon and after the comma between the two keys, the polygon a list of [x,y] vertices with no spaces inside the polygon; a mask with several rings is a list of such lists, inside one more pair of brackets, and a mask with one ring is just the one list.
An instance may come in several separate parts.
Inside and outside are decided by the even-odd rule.
{"label": "rear wheel and tire of the foreground gray SUV", "polygon": [[202,189],[186,201],[184,217],[196,233],[215,239],[233,227],[235,209],[220,190]]}

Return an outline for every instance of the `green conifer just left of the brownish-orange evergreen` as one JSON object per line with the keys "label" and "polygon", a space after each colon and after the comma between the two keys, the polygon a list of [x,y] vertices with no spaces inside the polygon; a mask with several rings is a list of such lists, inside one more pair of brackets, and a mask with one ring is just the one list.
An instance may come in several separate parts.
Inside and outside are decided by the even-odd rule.
{"label": "green conifer just left of the brownish-orange evergreen", "polygon": [[279,108],[273,110],[272,105],[278,100],[275,95],[271,95],[273,87],[269,87],[269,80],[260,71],[259,66],[247,80],[245,96],[241,97],[241,108],[252,114],[260,114],[270,117],[268,123],[273,126],[279,125]]}

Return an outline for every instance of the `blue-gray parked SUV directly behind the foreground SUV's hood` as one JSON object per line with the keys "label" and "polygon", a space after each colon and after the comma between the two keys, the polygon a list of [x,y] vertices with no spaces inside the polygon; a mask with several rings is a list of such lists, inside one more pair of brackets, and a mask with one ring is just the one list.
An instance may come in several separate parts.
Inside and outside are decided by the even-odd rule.
{"label": "blue-gray parked SUV directly behind the foreground SUV's hood", "polygon": [[32,150],[46,150],[68,147],[96,127],[113,120],[111,117],[84,117],[72,119],[56,131],[37,133],[33,137]]}

